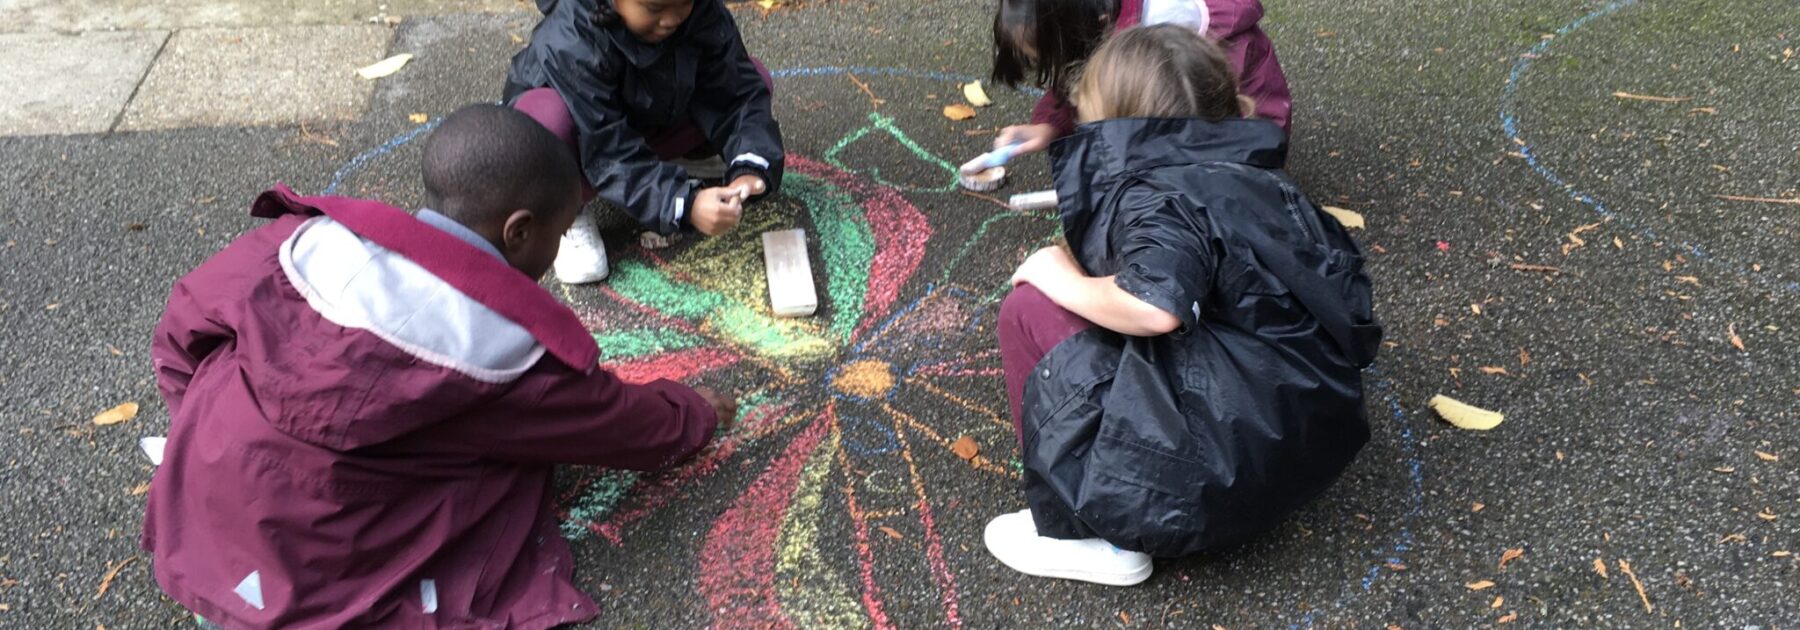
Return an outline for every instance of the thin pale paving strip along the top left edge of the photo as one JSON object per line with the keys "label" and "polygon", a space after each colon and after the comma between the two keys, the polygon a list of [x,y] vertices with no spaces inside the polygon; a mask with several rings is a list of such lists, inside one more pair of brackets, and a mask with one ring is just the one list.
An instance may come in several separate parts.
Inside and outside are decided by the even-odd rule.
{"label": "thin pale paving strip along the top left edge of the photo", "polygon": [[0,0],[0,32],[353,23],[533,9],[520,0]]}

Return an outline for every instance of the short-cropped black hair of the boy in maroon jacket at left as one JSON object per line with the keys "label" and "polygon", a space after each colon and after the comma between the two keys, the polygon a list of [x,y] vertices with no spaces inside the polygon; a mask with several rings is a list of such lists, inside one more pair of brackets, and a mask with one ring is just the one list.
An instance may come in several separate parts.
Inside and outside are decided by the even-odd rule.
{"label": "short-cropped black hair of the boy in maroon jacket at left", "polygon": [[425,203],[470,227],[504,221],[517,209],[554,216],[581,185],[567,144],[499,104],[470,104],[445,117],[425,140],[419,171]]}

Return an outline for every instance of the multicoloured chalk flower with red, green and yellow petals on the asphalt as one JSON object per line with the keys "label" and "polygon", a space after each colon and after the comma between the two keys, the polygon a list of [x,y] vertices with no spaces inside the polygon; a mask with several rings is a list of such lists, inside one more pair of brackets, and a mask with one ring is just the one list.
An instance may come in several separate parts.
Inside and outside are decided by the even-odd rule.
{"label": "multicoloured chalk flower with red, green and yellow petals on the asphalt", "polygon": [[[738,425],[682,468],[578,479],[562,495],[563,535],[623,544],[634,524],[689,497],[695,482],[733,482],[718,472],[745,463],[734,455],[772,452],[693,549],[697,594],[715,626],[891,628],[889,610],[905,607],[914,617],[922,605],[886,596],[886,585],[902,583],[936,587],[934,616],[958,626],[941,506],[922,466],[954,464],[976,479],[1017,472],[950,450],[963,436],[986,445],[1013,436],[992,407],[1001,391],[992,315],[1004,286],[977,295],[945,279],[985,248],[1022,252],[988,238],[995,221],[1044,218],[995,211],[947,245],[950,263],[931,283],[920,277],[927,247],[945,245],[932,243],[927,216],[898,187],[830,162],[790,157],[783,185],[796,212],[758,212],[666,259],[643,252],[616,265],[599,288],[605,313],[587,313],[607,367],[632,382],[729,369],[756,374],[760,389],[743,398]],[[817,248],[814,319],[769,313],[754,239],[788,227],[805,227]],[[927,409],[956,414],[923,418]],[[824,531],[848,531],[850,544],[824,540]]]}

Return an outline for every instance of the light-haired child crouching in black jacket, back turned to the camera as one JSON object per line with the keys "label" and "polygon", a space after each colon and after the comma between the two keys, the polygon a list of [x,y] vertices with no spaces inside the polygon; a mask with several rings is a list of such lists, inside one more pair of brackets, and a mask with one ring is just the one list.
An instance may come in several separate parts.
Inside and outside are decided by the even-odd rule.
{"label": "light-haired child crouching in black jacket, back turned to the camera", "polygon": [[1021,572],[1132,585],[1152,556],[1273,529],[1368,441],[1381,344],[1363,254],[1282,173],[1285,133],[1244,119],[1224,52],[1125,31],[1051,146],[1067,248],[1001,302],[1030,509],[986,545]]}

